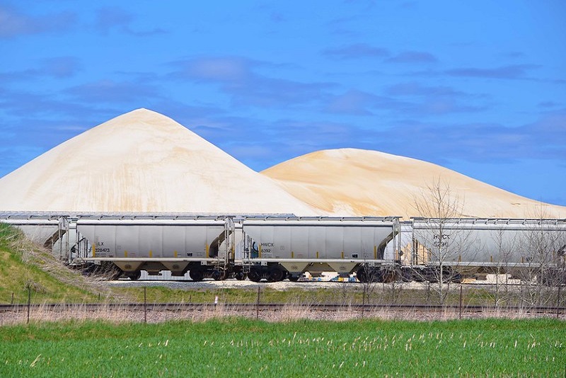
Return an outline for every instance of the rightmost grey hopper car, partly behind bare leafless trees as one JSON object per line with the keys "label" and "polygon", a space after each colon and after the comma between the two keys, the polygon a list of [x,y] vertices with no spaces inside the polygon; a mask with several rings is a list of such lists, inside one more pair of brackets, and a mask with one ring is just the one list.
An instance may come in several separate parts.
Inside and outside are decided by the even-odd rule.
{"label": "rightmost grey hopper car, partly behind bare leafless trees", "polygon": [[412,219],[412,272],[564,275],[566,219]]}

